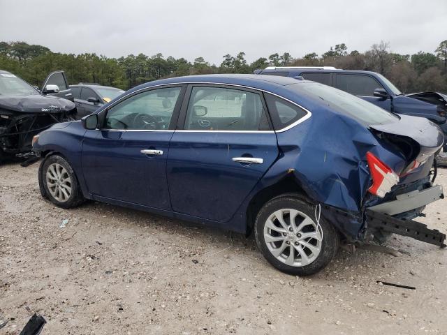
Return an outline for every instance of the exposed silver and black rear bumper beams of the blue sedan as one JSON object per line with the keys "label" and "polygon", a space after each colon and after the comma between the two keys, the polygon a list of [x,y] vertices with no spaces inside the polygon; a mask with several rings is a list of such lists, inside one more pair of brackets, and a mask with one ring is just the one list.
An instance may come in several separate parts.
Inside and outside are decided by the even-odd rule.
{"label": "exposed silver and black rear bumper beams of the blue sedan", "polygon": [[439,230],[430,230],[423,223],[402,219],[402,217],[406,217],[406,213],[420,212],[427,204],[444,199],[442,186],[435,185],[423,190],[411,191],[396,195],[395,198],[395,200],[367,208],[365,215],[369,232],[374,233],[374,230],[392,232],[442,248],[446,247],[446,244],[444,244],[446,234],[442,234]]}

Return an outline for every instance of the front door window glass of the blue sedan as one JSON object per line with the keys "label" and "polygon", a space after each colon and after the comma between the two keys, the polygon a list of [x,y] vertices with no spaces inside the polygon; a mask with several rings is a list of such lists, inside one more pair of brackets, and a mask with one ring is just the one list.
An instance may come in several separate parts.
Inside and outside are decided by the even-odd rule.
{"label": "front door window glass of the blue sedan", "polygon": [[180,87],[169,87],[131,96],[108,110],[105,128],[167,130],[180,90]]}

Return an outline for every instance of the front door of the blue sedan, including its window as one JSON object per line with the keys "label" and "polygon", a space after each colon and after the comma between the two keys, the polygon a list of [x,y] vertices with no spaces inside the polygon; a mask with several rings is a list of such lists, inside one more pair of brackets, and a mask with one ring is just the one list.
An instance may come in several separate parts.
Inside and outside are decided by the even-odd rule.
{"label": "front door of the blue sedan, including its window", "polygon": [[103,126],[87,131],[82,144],[89,193],[170,209],[166,158],[183,92],[182,87],[143,91],[100,113]]}

